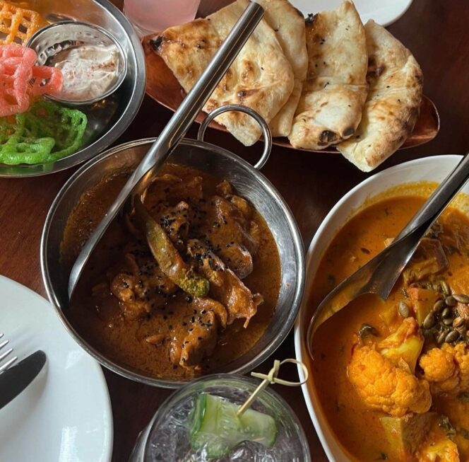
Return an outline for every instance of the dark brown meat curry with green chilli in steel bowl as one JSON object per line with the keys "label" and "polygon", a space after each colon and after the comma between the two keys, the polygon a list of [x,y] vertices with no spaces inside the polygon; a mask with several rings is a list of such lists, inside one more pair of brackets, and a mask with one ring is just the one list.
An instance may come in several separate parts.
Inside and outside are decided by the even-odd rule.
{"label": "dark brown meat curry with green chilli in steel bowl", "polygon": [[[71,214],[70,266],[129,173],[105,178]],[[115,220],[68,316],[90,345],[143,374],[186,380],[220,369],[263,335],[280,259],[266,222],[230,183],[167,164],[135,213]]]}

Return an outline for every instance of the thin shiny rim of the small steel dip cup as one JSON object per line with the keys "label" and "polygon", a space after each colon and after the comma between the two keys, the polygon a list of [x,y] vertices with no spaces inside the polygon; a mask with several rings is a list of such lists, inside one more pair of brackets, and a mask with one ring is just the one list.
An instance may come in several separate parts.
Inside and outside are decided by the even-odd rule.
{"label": "thin shiny rim of the small steel dip cup", "polygon": [[[117,47],[117,50],[119,50],[119,57],[122,61],[124,69],[122,69],[121,74],[117,76],[117,80],[114,82],[114,84],[107,91],[105,91],[105,93],[102,93],[102,95],[97,96],[96,98],[93,98],[90,100],[76,101],[76,100],[64,100],[64,99],[58,98],[57,96],[52,96],[52,95],[47,95],[47,94],[44,95],[44,97],[48,98],[49,100],[55,101],[56,103],[61,103],[64,105],[69,105],[69,106],[84,106],[88,104],[97,103],[97,101],[104,100],[105,98],[108,98],[109,96],[111,96],[112,93],[114,93],[114,91],[117,91],[117,89],[119,88],[119,86],[121,86],[122,82],[124,81],[127,75],[127,69],[128,69],[127,55],[125,54],[124,49],[122,48],[122,45],[119,43],[119,40],[117,40],[117,38],[114,37],[112,33],[110,33],[105,28],[102,28],[100,25],[93,24],[93,23],[85,23],[85,21],[73,21],[73,19],[71,19],[70,21],[59,21],[58,23],[48,24],[44,26],[43,28],[40,28],[30,37],[26,46],[32,48],[31,47],[32,42],[34,42],[38,37],[40,37],[47,30],[60,28],[60,26],[71,25],[71,24],[81,25],[81,26],[90,28],[92,30],[97,30],[99,33],[109,38],[109,40]],[[32,49],[35,50],[35,48],[32,48]]]}

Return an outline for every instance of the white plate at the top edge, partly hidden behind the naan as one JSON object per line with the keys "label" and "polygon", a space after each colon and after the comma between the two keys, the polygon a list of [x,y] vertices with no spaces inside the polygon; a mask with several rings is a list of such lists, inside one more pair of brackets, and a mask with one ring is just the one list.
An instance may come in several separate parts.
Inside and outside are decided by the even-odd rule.
{"label": "white plate at the top edge, partly hidden behind the naan", "polygon": [[[304,16],[337,8],[343,0],[290,0],[290,3],[301,11]],[[374,19],[381,25],[389,25],[397,21],[409,8],[412,0],[355,0],[355,7],[360,13],[362,22]]]}

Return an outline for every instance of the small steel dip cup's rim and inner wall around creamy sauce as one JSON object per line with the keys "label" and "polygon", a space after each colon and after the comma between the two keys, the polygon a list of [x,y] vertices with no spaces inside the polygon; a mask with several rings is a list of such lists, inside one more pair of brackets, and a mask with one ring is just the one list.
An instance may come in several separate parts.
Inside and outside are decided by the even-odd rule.
{"label": "small steel dip cup's rim and inner wall around creamy sauce", "polygon": [[71,100],[52,95],[46,95],[47,98],[64,105],[90,105],[111,96],[121,86],[127,74],[126,54],[119,41],[97,25],[78,21],[61,21],[50,24],[37,30],[26,46],[32,48],[37,53],[37,64],[40,66],[53,66],[54,57],[57,54],[82,45],[114,45],[117,48],[119,52],[117,77],[114,79],[112,86],[105,93],[88,100]]}

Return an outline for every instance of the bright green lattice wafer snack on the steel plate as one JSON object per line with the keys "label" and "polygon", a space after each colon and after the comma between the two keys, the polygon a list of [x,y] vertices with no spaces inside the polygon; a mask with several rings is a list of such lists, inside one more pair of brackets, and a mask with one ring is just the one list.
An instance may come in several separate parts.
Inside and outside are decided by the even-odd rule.
{"label": "bright green lattice wafer snack on the steel plate", "polygon": [[49,163],[70,156],[83,143],[83,112],[40,101],[13,119],[0,119],[0,163]]}

